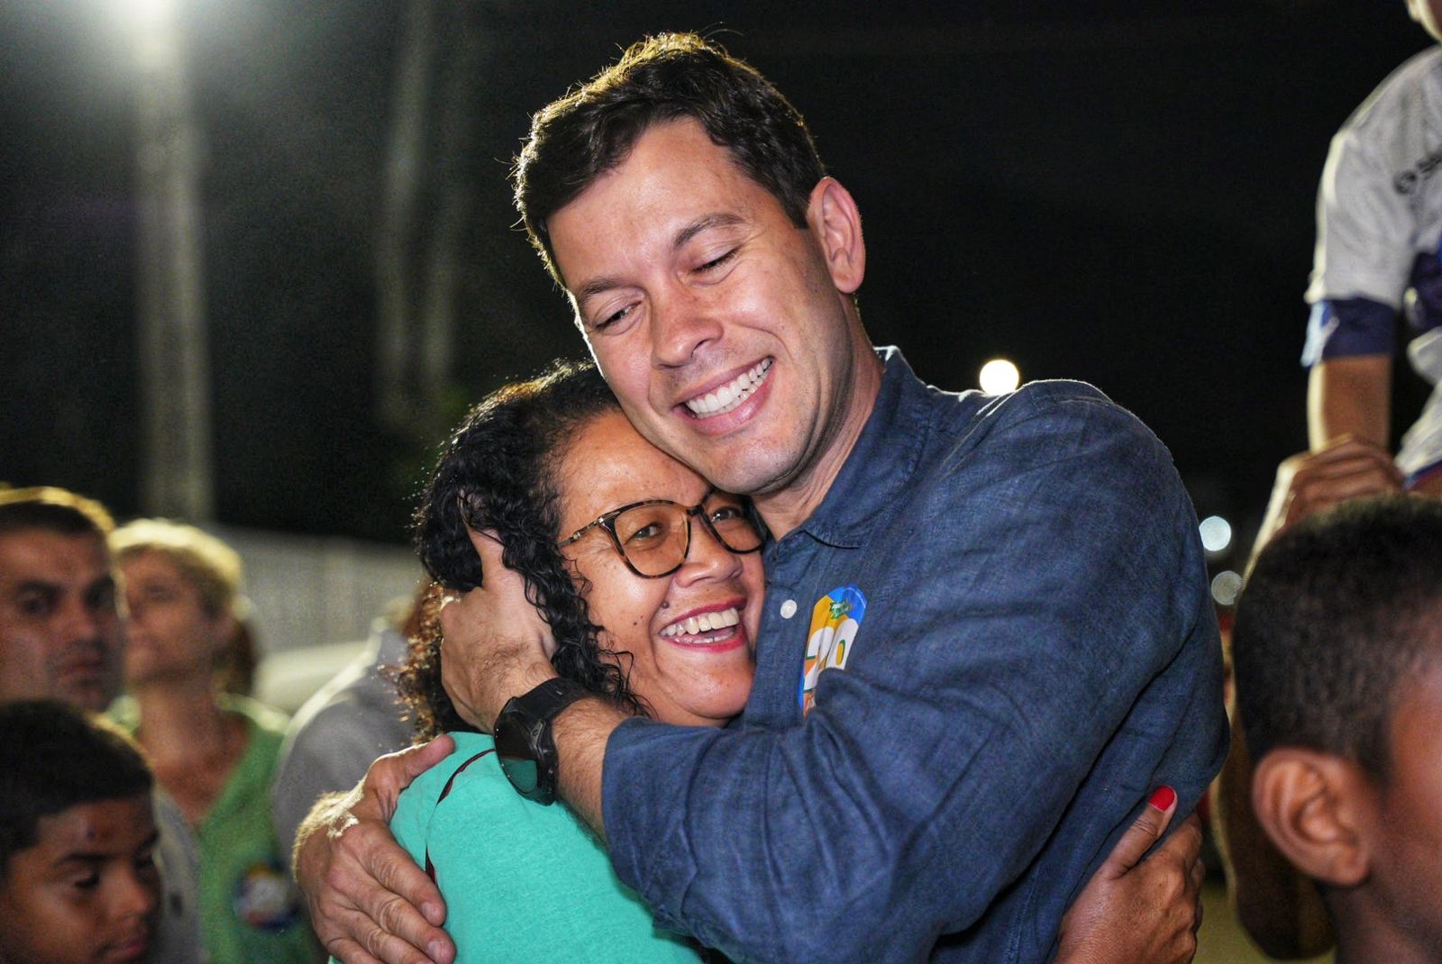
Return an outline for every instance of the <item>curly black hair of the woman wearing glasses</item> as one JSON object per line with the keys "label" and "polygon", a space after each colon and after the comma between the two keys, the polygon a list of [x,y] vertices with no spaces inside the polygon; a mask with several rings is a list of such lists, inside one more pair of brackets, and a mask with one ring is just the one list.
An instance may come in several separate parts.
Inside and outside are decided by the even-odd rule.
{"label": "curly black hair of the woman wearing glasses", "polygon": [[460,718],[441,686],[437,618],[444,589],[467,591],[482,584],[480,556],[467,526],[495,532],[502,559],[525,578],[526,597],[555,638],[555,671],[632,712],[645,712],[619,664],[624,654],[601,648],[601,627],[591,621],[557,545],[561,513],[555,476],[565,448],[596,418],[619,411],[594,365],[555,362],[539,378],[489,395],[443,445],[414,520],[415,549],[434,585],[423,602],[421,630],[411,637],[407,663],[397,674],[417,739],[476,729]]}

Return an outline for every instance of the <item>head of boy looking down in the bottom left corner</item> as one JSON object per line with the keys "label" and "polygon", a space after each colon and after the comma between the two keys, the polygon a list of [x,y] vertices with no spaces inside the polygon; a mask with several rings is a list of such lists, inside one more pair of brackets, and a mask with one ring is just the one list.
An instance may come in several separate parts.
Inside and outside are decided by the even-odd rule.
{"label": "head of boy looking down in the bottom left corner", "polygon": [[98,718],[0,705],[0,961],[147,960],[160,906],[150,788],[140,751]]}

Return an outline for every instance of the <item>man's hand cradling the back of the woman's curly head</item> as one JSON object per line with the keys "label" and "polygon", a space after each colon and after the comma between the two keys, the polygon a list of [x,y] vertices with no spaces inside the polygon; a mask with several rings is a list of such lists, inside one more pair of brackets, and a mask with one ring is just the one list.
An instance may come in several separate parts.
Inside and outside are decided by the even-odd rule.
{"label": "man's hand cradling the back of the woman's curly head", "polygon": [[555,676],[555,641],[495,536],[467,532],[486,585],[441,601],[441,683],[461,719],[489,733],[506,700]]}

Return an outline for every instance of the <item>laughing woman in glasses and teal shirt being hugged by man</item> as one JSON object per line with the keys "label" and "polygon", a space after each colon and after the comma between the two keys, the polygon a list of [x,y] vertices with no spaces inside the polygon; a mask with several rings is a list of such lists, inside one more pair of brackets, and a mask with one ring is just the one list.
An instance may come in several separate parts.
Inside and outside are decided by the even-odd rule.
{"label": "laughing woman in glasses and teal shirt being hugged by man", "polygon": [[[666,723],[721,726],[741,712],[763,602],[761,525],[744,499],[645,441],[593,366],[557,363],[466,416],[417,510],[421,561],[447,589],[482,581],[467,527],[492,533],[525,578],[564,680]],[[503,772],[496,742],[446,696],[441,653],[433,610],[399,687],[417,736],[451,732],[457,749],[401,794],[391,829],[446,898],[457,964],[705,958],[652,925],[565,807],[516,793],[523,780]],[[1116,947],[1099,938],[1122,932],[1136,951],[1125,960],[1190,960],[1156,952],[1190,928],[1185,898],[1162,908],[1115,889],[1154,839],[1135,829],[1122,839],[1113,860],[1135,856],[1109,860],[1083,891],[1057,961],[1090,961],[1089,948]]]}

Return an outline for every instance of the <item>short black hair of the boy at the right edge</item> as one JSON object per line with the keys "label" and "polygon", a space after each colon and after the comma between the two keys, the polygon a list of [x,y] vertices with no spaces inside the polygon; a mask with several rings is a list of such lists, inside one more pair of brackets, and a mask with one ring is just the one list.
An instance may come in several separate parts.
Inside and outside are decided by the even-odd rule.
{"label": "short black hair of the boy at the right edge", "polygon": [[1252,758],[1305,746],[1386,781],[1399,690],[1439,643],[1442,501],[1364,499],[1296,523],[1257,556],[1237,604]]}

